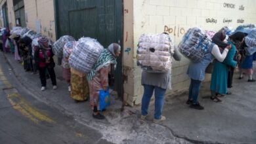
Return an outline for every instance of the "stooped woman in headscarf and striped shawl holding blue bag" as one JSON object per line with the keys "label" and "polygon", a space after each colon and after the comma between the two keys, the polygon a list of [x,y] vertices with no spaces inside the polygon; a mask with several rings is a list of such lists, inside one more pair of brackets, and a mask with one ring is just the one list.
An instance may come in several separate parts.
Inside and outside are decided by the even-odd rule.
{"label": "stooped woman in headscarf and striped shawl holding blue bag", "polygon": [[116,65],[116,58],[121,53],[121,46],[112,43],[108,48],[104,49],[96,61],[93,69],[88,73],[87,79],[90,88],[90,105],[93,109],[93,117],[104,119],[104,115],[99,113],[99,91],[108,90],[108,73],[111,71],[112,65]]}

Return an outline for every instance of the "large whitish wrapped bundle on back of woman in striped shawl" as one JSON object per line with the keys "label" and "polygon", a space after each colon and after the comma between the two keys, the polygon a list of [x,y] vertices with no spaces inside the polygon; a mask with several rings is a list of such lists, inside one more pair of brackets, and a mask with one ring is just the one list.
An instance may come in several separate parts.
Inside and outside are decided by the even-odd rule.
{"label": "large whitish wrapped bundle on back of woman in striped shawl", "polygon": [[89,37],[79,39],[70,54],[70,67],[81,73],[89,73],[103,49],[96,39]]}

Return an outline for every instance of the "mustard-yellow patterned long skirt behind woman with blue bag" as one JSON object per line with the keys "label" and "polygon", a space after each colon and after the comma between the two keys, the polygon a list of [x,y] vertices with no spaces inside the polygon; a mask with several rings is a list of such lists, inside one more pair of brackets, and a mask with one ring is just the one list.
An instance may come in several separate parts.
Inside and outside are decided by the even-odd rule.
{"label": "mustard-yellow patterned long skirt behind woman with blue bag", "polygon": [[71,71],[71,98],[84,101],[89,96],[89,84],[86,75],[77,75]]}

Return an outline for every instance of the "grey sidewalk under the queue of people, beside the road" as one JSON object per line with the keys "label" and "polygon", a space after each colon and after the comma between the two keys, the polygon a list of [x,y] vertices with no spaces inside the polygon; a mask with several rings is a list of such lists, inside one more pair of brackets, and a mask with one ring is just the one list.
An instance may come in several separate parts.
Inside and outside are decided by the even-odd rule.
{"label": "grey sidewalk under the queue of people, beside the road", "polygon": [[[4,56],[1,53],[1,56]],[[162,124],[152,123],[154,106],[150,107],[150,118],[140,121],[140,106],[125,107],[120,111],[121,100],[112,97],[112,105],[104,112],[106,120],[95,120],[91,116],[89,101],[75,103],[68,92],[68,84],[62,79],[62,69],[56,66],[57,90],[52,90],[47,80],[47,90],[41,92],[39,75],[25,72],[22,65],[11,54],[5,54],[12,71],[24,88],[39,101],[56,107],[77,122],[91,126],[113,143],[255,143],[256,141],[256,90],[255,82],[237,80],[234,75],[232,95],[223,103],[209,100],[209,82],[202,85],[199,101],[205,110],[190,109],[185,104],[187,94],[167,96]],[[253,76],[255,79],[255,75]]]}

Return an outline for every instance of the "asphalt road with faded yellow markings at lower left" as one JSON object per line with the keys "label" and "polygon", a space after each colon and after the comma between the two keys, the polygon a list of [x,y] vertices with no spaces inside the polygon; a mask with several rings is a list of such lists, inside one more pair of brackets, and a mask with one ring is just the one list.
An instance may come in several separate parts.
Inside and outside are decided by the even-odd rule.
{"label": "asphalt road with faded yellow markings at lower left", "polygon": [[108,143],[100,132],[33,98],[3,58],[0,65],[0,143]]}

